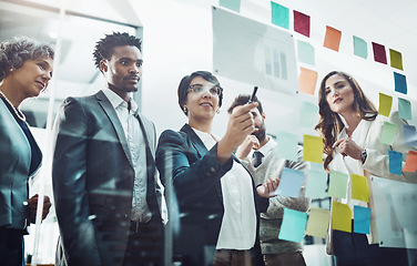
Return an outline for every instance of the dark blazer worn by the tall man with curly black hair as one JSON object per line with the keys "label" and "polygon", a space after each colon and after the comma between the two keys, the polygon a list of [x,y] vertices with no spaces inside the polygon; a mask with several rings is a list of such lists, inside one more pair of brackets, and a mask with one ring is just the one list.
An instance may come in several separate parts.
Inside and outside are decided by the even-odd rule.
{"label": "dark blazer worn by the tall man with curly black hair", "polygon": [[[146,142],[146,201],[162,226],[155,127],[141,115],[138,120]],[[54,131],[52,184],[65,258],[69,265],[120,265],[130,232],[134,170],[118,114],[102,91],[68,98]]]}

